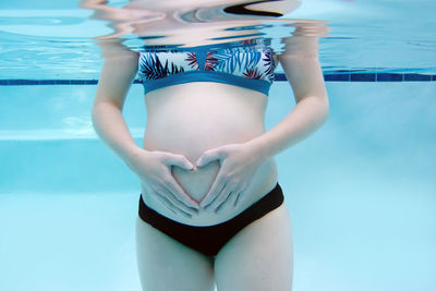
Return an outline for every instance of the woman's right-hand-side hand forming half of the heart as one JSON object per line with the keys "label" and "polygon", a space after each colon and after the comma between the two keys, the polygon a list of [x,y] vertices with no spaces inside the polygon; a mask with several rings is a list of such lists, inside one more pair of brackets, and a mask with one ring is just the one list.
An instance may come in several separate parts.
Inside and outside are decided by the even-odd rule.
{"label": "woman's right-hand-side hand forming half of the heart", "polygon": [[233,206],[237,206],[265,158],[253,143],[247,142],[206,150],[196,166],[203,167],[214,160],[219,161],[220,168],[199,206],[218,213],[230,201],[234,201]]}

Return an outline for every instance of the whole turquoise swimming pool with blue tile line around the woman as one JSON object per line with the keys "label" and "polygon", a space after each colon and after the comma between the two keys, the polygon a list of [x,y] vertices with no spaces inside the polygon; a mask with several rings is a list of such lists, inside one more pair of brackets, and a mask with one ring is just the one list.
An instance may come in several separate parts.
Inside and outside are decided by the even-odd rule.
{"label": "whole turquoise swimming pool with blue tile line around the woman", "polygon": [[[81,39],[59,43],[62,33],[75,37],[87,13],[73,1],[7,2],[0,3],[0,290],[138,291],[140,182],[90,124],[101,60],[87,43],[76,51]],[[320,54],[330,114],[277,156],[293,226],[293,290],[433,291],[436,52],[427,27],[435,5],[304,3],[294,17],[331,22]],[[134,84],[124,109],[138,144],[146,120],[141,95]],[[293,106],[289,84],[276,82],[267,128]]]}

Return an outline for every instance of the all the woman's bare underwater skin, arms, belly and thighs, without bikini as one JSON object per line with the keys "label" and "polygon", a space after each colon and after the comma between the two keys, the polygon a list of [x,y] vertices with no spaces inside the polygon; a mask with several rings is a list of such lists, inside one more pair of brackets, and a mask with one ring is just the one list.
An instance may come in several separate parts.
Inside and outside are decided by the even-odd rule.
{"label": "all the woman's bare underwater skin, arms, belly and thighs, without bikini", "polygon": [[[294,36],[284,43],[279,61],[296,106],[276,126],[265,131],[268,97],[262,93],[186,83],[144,97],[143,147],[135,144],[122,117],[138,56],[118,44],[100,44],[106,58],[93,107],[94,128],[141,179],[149,207],[182,223],[210,226],[234,217],[275,186],[274,157],[318,129],[329,107],[317,38]],[[204,291],[214,290],[215,283],[219,291],[292,288],[293,243],[286,204],[245,227],[215,259],[140,218],[136,246],[143,290]]]}

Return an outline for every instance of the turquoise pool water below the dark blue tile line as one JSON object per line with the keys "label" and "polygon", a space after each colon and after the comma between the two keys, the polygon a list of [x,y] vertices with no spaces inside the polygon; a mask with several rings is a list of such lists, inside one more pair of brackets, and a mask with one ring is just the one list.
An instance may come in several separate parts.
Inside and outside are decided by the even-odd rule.
{"label": "turquoise pool water below the dark blue tile line", "polygon": [[[293,226],[294,290],[435,290],[435,83],[327,88],[327,123],[277,156]],[[132,87],[124,111],[138,144],[141,90]],[[1,290],[141,290],[140,182],[87,136],[94,92],[1,88],[1,124],[20,128],[0,142]],[[289,85],[276,83],[268,128],[293,106]],[[83,119],[85,137],[62,136],[72,118]],[[52,131],[36,132],[46,128]]]}

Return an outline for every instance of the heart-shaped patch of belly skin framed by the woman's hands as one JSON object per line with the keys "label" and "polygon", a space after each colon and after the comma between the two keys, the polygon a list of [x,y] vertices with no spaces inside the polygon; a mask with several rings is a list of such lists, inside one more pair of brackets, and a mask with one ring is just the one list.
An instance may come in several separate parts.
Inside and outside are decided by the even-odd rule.
{"label": "heart-shaped patch of belly skin framed by the woman's hands", "polygon": [[185,170],[174,166],[172,167],[172,177],[186,194],[199,204],[209,192],[219,168],[218,160],[213,160],[201,168],[194,166],[193,170]]}

